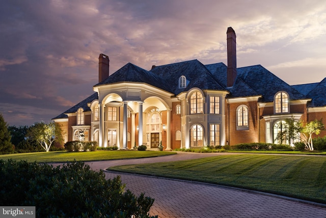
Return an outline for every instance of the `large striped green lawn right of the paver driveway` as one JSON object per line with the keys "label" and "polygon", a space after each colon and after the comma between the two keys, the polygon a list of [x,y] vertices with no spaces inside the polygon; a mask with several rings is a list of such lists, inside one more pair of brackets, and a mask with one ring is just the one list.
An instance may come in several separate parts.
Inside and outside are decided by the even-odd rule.
{"label": "large striped green lawn right of the paver driveway", "polygon": [[326,203],[324,156],[222,155],[109,169],[208,182]]}

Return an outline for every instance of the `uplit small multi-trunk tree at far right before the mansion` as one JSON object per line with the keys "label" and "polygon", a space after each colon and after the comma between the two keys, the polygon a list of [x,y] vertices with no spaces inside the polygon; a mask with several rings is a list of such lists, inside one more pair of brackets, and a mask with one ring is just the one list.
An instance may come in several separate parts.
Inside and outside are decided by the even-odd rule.
{"label": "uplit small multi-trunk tree at far right before the mansion", "polygon": [[302,122],[298,123],[298,130],[303,133],[301,137],[301,141],[304,142],[305,146],[310,150],[313,151],[313,143],[312,143],[312,135],[316,134],[319,135],[321,130],[324,130],[324,125],[321,120],[313,120],[309,122],[306,126],[303,126]]}

